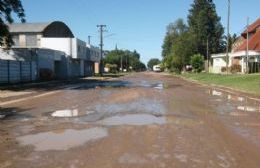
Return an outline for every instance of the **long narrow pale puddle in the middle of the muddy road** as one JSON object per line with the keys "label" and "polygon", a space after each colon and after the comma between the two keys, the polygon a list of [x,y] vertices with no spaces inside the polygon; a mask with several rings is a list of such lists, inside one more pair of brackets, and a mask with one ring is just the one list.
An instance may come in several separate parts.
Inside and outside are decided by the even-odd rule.
{"label": "long narrow pale puddle in the middle of the muddy road", "polygon": [[166,123],[166,118],[150,114],[129,114],[105,118],[98,123],[101,125],[161,125]]}

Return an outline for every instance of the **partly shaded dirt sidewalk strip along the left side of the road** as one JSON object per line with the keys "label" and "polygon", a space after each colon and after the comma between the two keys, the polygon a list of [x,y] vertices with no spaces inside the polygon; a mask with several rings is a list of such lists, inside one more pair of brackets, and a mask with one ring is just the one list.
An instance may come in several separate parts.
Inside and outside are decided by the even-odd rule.
{"label": "partly shaded dirt sidewalk strip along the left side of the road", "polygon": [[84,83],[112,80],[113,77],[86,77],[0,86],[0,106],[75,89]]}

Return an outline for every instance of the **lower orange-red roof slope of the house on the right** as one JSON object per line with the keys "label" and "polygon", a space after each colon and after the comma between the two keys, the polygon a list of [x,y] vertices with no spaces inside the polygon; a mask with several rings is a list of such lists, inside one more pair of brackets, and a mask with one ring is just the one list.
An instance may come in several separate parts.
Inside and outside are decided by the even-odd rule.
{"label": "lower orange-red roof slope of the house on the right", "polygon": [[[236,51],[245,51],[247,46],[247,40],[236,49]],[[258,30],[248,41],[248,49],[254,51],[260,51],[260,30]]]}

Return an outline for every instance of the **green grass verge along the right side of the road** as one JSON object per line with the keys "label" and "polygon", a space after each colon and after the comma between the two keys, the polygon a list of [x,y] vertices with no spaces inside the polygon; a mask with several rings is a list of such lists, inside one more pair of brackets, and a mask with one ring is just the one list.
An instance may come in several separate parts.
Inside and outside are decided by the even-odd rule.
{"label": "green grass verge along the right side of the road", "polygon": [[182,77],[196,80],[205,84],[215,84],[230,87],[260,95],[260,73],[249,75],[220,75],[209,73],[186,73]]}

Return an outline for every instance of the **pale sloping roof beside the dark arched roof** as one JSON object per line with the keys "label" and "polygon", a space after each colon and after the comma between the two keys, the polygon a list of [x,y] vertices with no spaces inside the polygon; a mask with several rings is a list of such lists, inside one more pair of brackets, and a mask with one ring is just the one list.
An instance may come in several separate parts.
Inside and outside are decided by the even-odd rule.
{"label": "pale sloping roof beside the dark arched roof", "polygon": [[13,23],[8,26],[11,33],[41,33],[51,23]]}

